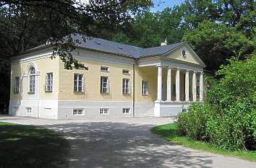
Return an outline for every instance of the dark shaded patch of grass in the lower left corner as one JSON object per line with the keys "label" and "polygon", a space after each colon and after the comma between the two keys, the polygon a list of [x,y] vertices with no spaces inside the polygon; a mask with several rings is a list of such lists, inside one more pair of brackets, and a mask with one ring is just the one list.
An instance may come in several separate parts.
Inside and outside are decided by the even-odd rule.
{"label": "dark shaded patch of grass in the lower left corner", "polygon": [[69,143],[33,125],[0,122],[0,168],[68,167]]}

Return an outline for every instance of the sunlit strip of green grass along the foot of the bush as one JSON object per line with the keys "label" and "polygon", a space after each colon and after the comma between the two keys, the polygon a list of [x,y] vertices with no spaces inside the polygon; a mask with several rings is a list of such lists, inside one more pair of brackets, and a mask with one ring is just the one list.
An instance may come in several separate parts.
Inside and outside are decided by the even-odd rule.
{"label": "sunlit strip of green grass along the foot of the bush", "polygon": [[186,147],[201,150],[201,151],[210,151],[214,154],[235,156],[241,159],[246,159],[252,162],[256,162],[256,151],[229,151],[224,149],[216,149],[216,147],[210,145],[210,143],[194,141],[185,136],[179,136],[179,133],[177,131],[177,125],[175,123],[158,125],[152,128],[151,132],[163,138],[166,138],[166,140],[171,143],[179,144],[182,146],[186,146]]}

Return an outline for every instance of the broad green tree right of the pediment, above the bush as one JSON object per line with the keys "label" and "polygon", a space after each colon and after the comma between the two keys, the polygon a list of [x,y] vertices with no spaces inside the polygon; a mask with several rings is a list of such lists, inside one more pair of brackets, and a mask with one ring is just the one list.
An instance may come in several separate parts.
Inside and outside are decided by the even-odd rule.
{"label": "broad green tree right of the pediment, above the bush", "polygon": [[213,71],[226,64],[227,59],[244,59],[255,49],[254,43],[234,27],[208,21],[187,31],[183,40],[192,45],[207,68]]}

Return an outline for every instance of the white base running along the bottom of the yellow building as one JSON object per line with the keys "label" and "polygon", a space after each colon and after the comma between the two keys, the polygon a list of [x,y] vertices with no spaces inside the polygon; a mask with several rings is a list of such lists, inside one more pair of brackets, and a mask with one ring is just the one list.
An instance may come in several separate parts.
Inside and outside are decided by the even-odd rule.
{"label": "white base running along the bottom of the yellow building", "polygon": [[[71,120],[85,118],[114,118],[132,116],[175,116],[187,108],[184,102],[132,102],[126,101],[77,101],[77,100],[11,100],[9,115]],[[135,113],[133,107],[135,106]],[[108,114],[100,114],[100,108],[108,108]],[[129,108],[129,113],[123,113]],[[74,115],[73,110],[83,110]]]}

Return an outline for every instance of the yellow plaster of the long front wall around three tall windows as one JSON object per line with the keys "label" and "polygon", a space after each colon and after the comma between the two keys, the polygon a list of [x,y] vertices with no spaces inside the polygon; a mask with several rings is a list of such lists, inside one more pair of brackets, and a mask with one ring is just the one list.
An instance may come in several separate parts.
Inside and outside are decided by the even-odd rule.
{"label": "yellow plaster of the long front wall around three tall windows", "polygon": [[[91,101],[132,101],[133,66],[101,61],[79,59],[89,70],[66,70],[62,62],[59,63],[59,100],[91,100]],[[101,72],[101,66],[108,66],[109,72]],[[123,69],[130,71],[129,75],[122,74]],[[84,74],[85,92],[74,92],[74,74]],[[110,79],[110,93],[101,93],[101,76]],[[122,94],[122,80],[130,79],[131,94]]]}

